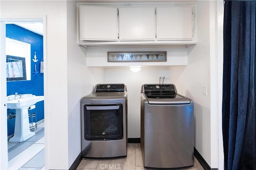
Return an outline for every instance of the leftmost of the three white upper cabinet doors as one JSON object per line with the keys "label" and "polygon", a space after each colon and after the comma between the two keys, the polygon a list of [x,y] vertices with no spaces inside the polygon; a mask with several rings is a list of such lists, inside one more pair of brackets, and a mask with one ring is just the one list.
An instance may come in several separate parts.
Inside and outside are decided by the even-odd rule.
{"label": "leftmost of the three white upper cabinet doors", "polygon": [[80,5],[80,40],[118,41],[117,7]]}

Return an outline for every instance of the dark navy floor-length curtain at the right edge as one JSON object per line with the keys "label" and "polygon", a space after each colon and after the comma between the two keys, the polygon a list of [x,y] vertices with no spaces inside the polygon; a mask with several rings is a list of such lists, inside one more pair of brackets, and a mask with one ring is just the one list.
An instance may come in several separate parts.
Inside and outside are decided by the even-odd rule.
{"label": "dark navy floor-length curtain at the right edge", "polygon": [[222,134],[225,170],[256,170],[255,1],[225,1]]}

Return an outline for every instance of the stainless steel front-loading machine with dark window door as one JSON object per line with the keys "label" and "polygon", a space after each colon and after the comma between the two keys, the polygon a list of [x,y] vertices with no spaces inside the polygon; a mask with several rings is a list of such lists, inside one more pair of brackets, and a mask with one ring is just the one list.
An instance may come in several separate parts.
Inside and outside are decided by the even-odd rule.
{"label": "stainless steel front-loading machine with dark window door", "polygon": [[98,84],[81,100],[82,156],[127,156],[127,90],[125,84]]}

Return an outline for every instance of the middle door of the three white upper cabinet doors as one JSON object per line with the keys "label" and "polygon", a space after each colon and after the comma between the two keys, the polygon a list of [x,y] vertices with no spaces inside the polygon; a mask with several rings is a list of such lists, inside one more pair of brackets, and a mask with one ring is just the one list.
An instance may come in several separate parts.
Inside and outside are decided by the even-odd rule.
{"label": "middle door of the three white upper cabinet doors", "polygon": [[119,39],[120,41],[155,40],[154,7],[120,7]]}

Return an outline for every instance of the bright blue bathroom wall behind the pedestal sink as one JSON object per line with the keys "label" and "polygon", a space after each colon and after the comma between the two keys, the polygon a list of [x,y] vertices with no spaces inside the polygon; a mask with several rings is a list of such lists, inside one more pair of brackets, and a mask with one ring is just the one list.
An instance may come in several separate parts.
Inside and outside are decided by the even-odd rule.
{"label": "bright blue bathroom wall behind the pedestal sink", "polygon": [[[6,37],[18,40],[25,43],[30,43],[31,47],[31,80],[26,81],[8,81],[7,82],[7,96],[18,94],[33,94],[36,96],[44,95],[44,74],[40,73],[40,61],[43,58],[43,36],[26,30],[15,24],[6,24]],[[38,61],[35,63],[34,52]],[[38,71],[37,76],[32,73]],[[31,111],[28,111],[30,113]],[[7,109],[7,114],[15,113],[13,109]],[[36,103],[36,108],[32,110],[36,113],[36,121],[44,119],[44,101]],[[31,119],[30,119],[31,122]],[[35,119],[34,121],[35,122]],[[8,136],[14,133],[15,118],[7,120]]]}

